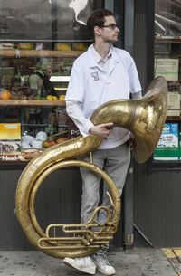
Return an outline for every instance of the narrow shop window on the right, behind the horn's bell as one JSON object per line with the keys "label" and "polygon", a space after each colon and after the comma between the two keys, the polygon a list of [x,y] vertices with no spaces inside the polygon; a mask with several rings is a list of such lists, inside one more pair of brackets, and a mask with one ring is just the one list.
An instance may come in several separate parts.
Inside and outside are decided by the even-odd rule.
{"label": "narrow shop window on the right, behind the horn's bell", "polygon": [[[154,163],[173,168],[181,161],[181,4],[180,1],[156,0],[155,10],[155,76],[167,80],[167,120]],[[166,166],[168,164],[168,166]]]}

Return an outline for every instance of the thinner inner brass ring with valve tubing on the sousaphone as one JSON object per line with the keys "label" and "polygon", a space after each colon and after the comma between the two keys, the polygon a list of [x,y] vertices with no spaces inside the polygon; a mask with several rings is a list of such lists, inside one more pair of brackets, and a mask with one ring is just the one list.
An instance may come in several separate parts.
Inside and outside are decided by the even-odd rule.
{"label": "thinner inner brass ring with valve tubing on the sousaphone", "polygon": [[[107,210],[107,220],[106,225],[105,224],[98,224],[95,216],[100,210],[101,207],[97,208],[95,212],[92,214],[90,221],[86,224],[53,224],[49,225],[47,227],[46,233],[43,233],[43,230],[41,229],[40,225],[38,224],[35,216],[34,211],[34,201],[35,196],[38,192],[39,187],[43,184],[43,180],[49,176],[53,171],[60,169],[62,167],[87,167],[90,168],[93,172],[96,174],[99,174],[105,182],[110,187],[111,192],[111,200],[113,205],[113,213],[110,215],[110,210],[106,208],[105,206],[102,206],[102,208],[108,209]],[[120,200],[119,200],[119,192],[117,188],[115,188],[115,185],[113,181],[110,179],[110,176],[108,176],[104,171],[100,169],[100,167],[95,166],[94,164],[91,164],[89,162],[84,162],[80,160],[64,160],[63,162],[55,163],[51,167],[48,167],[46,170],[43,171],[41,176],[37,179],[35,185],[32,187],[31,194],[29,195],[29,215],[30,219],[32,221],[33,227],[36,231],[36,233],[39,233],[40,236],[43,238],[36,241],[39,249],[46,250],[46,253],[50,253],[52,255],[57,255],[60,258],[64,258],[65,256],[82,256],[82,255],[88,255],[92,252],[97,251],[100,248],[101,244],[109,243],[109,240],[113,238],[113,234],[117,230],[117,226],[119,223],[119,213],[120,213]],[[113,226],[112,226],[113,225]],[[52,227],[61,227],[64,233],[79,233],[81,236],[79,238],[73,237],[69,238],[49,238],[49,229]],[[67,228],[74,228],[74,230],[71,232]],[[98,227],[101,227],[100,231],[94,231],[94,238],[90,242],[90,227],[92,229],[96,229]],[[77,229],[75,229],[77,228]],[[93,231],[93,230],[92,230]],[[28,233],[29,234],[29,233]],[[97,241],[100,241],[99,243]],[[33,237],[34,241],[34,237]],[[76,245],[73,246],[74,241],[76,241]],[[80,241],[80,243],[78,243]],[[83,242],[84,241],[84,242]],[[87,243],[85,243],[87,241]],[[50,243],[42,243],[42,242],[54,242],[52,244]],[[56,243],[55,243],[56,242]],[[66,244],[65,244],[66,242]],[[89,243],[89,244],[88,244]],[[56,244],[56,246],[55,246]],[[90,245],[88,247],[88,245]],[[66,247],[66,251],[65,251]],[[74,249],[74,250],[73,250]],[[58,251],[59,250],[59,251]],[[70,252],[69,252],[70,251]]]}

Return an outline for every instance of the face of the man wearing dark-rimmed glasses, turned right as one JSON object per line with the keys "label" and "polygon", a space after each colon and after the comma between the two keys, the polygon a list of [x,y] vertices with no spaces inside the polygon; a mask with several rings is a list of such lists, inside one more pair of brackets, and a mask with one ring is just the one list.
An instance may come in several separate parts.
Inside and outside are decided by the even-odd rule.
{"label": "face of the man wearing dark-rimmed glasses, turned right", "polygon": [[116,43],[118,41],[119,28],[116,26],[114,16],[106,16],[104,27],[100,28],[101,38],[105,43]]}

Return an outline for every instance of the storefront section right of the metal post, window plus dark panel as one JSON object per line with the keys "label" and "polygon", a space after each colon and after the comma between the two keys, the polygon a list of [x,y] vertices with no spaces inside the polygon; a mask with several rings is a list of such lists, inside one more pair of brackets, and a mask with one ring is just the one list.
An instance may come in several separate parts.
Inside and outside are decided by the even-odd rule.
{"label": "storefront section right of the metal post, window plus dark panel", "polygon": [[[144,5],[141,9],[143,11]],[[140,11],[137,16],[141,18]],[[153,157],[142,166],[135,164],[134,226],[135,233],[139,233],[147,244],[180,247],[180,2],[156,0],[154,13],[155,38],[153,41],[148,38],[151,43],[148,48],[151,60],[155,62],[153,67],[149,59],[146,65],[151,65],[149,76],[163,75],[167,80],[167,120]]]}

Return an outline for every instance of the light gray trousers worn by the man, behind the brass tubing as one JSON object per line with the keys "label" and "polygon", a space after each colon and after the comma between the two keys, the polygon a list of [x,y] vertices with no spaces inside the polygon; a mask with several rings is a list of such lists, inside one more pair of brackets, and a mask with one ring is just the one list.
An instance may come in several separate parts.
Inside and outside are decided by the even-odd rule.
{"label": "light gray trousers worn by the man, behind the brass tubing", "polygon": [[[93,164],[108,173],[122,195],[122,189],[127,176],[130,162],[130,148],[127,144],[120,145],[117,148],[96,149],[92,152]],[[90,155],[81,158],[90,161]],[[82,195],[81,195],[81,223],[87,222],[93,211],[100,202],[100,176],[88,168],[80,167],[82,177]],[[109,191],[107,184],[103,186],[102,205],[112,210],[110,200],[106,192]],[[106,219],[106,211],[101,210],[97,218],[100,223]]]}

